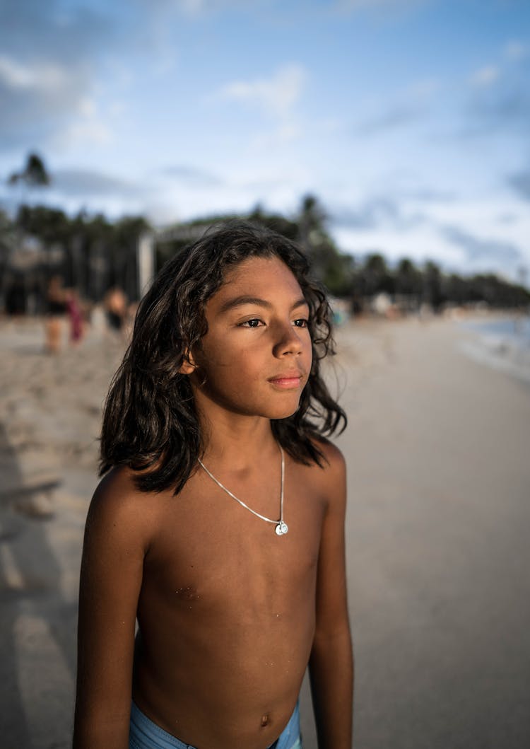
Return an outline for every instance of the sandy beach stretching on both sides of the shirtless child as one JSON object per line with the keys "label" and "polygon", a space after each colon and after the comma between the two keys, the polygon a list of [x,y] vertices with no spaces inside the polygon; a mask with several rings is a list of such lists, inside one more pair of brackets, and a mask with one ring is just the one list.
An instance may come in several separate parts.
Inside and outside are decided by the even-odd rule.
{"label": "sandy beach stretching on both sides of the shirtless child", "polygon": [[[350,423],[356,749],[530,746],[530,383],[448,319],[354,321],[334,372]],[[70,746],[82,531],[123,342],[43,354],[0,322],[0,744]],[[316,749],[308,688],[305,749]]]}

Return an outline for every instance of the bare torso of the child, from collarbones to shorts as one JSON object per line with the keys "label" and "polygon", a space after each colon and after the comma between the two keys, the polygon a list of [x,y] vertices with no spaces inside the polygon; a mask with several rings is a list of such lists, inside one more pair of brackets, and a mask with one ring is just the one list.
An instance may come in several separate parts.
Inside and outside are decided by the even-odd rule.
{"label": "bare torso of the child, from collarbones to shorts", "polygon": [[[287,724],[314,634],[325,474],[287,462],[286,536],[203,473],[177,497],[145,497],[133,697],[183,742],[262,749]],[[277,496],[252,497],[279,516]]]}

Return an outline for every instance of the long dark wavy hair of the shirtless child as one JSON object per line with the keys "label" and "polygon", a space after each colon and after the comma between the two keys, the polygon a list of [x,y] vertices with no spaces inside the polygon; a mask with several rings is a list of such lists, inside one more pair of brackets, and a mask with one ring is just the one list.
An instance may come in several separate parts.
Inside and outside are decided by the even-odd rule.
{"label": "long dark wavy hair of the shirtless child", "polygon": [[189,377],[179,372],[186,352],[207,332],[204,306],[225,274],[248,258],[277,257],[291,270],[309,306],[313,364],[299,408],[274,419],[272,433],[294,460],[322,465],[315,438],[342,431],[346,414],[320,375],[320,361],[335,354],[326,294],[308,275],[299,246],[264,227],[231,221],[207,231],[159,271],[138,306],[133,338],[106,398],[100,476],[113,466],[135,471],[141,491],[178,494],[204,452]]}

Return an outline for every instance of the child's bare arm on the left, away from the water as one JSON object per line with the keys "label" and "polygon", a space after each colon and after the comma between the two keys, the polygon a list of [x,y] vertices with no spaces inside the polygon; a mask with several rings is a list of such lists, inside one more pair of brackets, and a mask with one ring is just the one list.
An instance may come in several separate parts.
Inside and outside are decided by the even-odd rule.
{"label": "child's bare arm on the left, away from the water", "polygon": [[129,747],[145,537],[138,499],[123,476],[109,476],[88,511],[79,586],[73,749]]}

